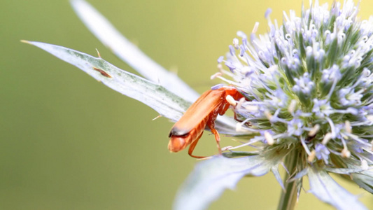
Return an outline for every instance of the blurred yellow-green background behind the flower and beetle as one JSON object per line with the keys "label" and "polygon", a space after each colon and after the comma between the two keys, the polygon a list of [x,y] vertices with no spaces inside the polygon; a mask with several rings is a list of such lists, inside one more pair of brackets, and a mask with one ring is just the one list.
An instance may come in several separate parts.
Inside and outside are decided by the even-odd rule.
{"label": "blurred yellow-green background behind the flower and beetle", "polygon": [[[302,1],[99,1],[93,6],[127,38],[198,92],[219,80],[216,59],[236,31],[272,19]],[[329,1],[331,2],[331,1]],[[308,4],[308,1],[306,2]],[[361,3],[368,18],[373,3]],[[0,76],[0,209],[170,209],[178,186],[196,162],[167,150],[172,123],[20,39],[97,55],[134,72],[83,26],[69,1],[3,1]],[[195,155],[213,155],[205,135]],[[230,138],[223,146],[235,145]],[[372,195],[342,182],[373,208]],[[276,209],[281,188],[272,174],[247,178],[211,209]],[[332,209],[302,193],[298,209]]]}

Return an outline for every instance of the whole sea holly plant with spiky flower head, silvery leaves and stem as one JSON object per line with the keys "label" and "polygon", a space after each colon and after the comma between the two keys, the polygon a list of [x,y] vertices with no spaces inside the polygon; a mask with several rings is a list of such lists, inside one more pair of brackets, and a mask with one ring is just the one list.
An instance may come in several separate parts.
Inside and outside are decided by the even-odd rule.
{"label": "whole sea holly plant with spiky flower head, silvery leaves and stem", "polygon": [[[134,48],[85,1],[72,3],[87,27],[148,80],[101,57],[27,43],[178,120],[197,94]],[[309,192],[323,202],[337,209],[365,209],[329,173],[373,193],[373,18],[359,20],[358,6],[351,0],[343,7],[335,2],[330,9],[311,2],[300,17],[294,11],[284,13],[283,25],[272,22],[269,13],[265,14],[269,32],[257,37],[258,24],[249,37],[239,31],[241,42],[233,39],[227,55],[218,58],[220,72],[213,76],[244,95],[232,103],[239,123],[234,126],[232,120],[218,118],[216,128],[221,133],[246,134],[246,142],[200,162],[176,195],[174,209],[205,209],[242,177],[270,171],[284,189],[279,209],[293,209],[304,176]],[[254,151],[244,149],[249,146]],[[285,179],[279,174],[280,165],[286,169]]]}

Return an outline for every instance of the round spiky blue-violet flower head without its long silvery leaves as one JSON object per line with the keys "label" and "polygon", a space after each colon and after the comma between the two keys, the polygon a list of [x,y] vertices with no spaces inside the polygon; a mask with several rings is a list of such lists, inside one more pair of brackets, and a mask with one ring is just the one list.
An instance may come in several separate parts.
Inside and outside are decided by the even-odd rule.
{"label": "round spiky blue-violet flower head without its long silvery leaves", "polygon": [[248,99],[234,109],[242,120],[238,127],[258,134],[232,149],[260,141],[260,153],[293,159],[286,164],[287,181],[297,183],[298,195],[308,175],[312,193],[349,209],[317,193],[315,175],[350,174],[373,193],[373,18],[360,21],[349,0],[330,9],[312,4],[300,17],[284,13],[281,26],[268,10],[268,34],[255,36],[258,23],[250,36],[239,31],[241,43],[234,38],[226,58],[218,59],[230,79],[220,78]]}

